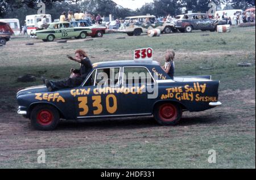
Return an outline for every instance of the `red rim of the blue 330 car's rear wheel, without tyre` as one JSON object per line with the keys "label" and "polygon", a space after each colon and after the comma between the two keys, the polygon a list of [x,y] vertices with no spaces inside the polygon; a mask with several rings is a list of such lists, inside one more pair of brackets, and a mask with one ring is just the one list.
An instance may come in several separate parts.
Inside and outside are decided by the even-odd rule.
{"label": "red rim of the blue 330 car's rear wheel, without tyre", "polygon": [[172,104],[163,104],[159,108],[159,116],[163,121],[172,122],[177,118],[177,108]]}

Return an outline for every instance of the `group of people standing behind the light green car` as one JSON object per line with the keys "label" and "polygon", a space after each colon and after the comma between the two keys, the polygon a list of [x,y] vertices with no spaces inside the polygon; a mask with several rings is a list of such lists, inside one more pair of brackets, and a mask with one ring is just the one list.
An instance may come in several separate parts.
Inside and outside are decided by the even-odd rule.
{"label": "group of people standing behind the light green car", "polygon": [[91,15],[89,13],[83,11],[76,11],[75,14],[73,11],[68,11],[68,14],[64,11],[60,15],[60,22],[73,22],[73,21],[80,21],[80,20],[88,20],[88,22],[92,24],[102,24],[101,15]]}

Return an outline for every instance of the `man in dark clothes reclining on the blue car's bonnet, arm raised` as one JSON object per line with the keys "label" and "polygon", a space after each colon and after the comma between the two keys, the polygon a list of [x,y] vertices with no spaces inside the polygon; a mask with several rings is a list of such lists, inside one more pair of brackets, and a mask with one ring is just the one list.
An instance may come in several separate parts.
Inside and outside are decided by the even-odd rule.
{"label": "man in dark clothes reclining on the blue car's bonnet, arm raised", "polygon": [[48,80],[42,77],[42,80],[44,84],[46,84],[46,87],[49,91],[77,87],[82,82],[84,82],[86,76],[92,70],[92,63],[90,62],[90,59],[84,50],[76,50],[75,56],[75,58],[70,56],[68,56],[68,58],[72,61],[80,63],[81,67],[79,70],[71,68],[71,76],[69,78],[53,82],[52,80]]}

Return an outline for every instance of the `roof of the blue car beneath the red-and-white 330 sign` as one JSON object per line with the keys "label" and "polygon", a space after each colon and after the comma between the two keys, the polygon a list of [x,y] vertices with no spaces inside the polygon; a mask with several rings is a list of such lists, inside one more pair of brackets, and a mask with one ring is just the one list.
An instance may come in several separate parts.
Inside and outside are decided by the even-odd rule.
{"label": "roof of the blue car beneath the red-and-white 330 sign", "polygon": [[120,67],[120,66],[159,66],[156,61],[134,61],[134,60],[123,60],[123,61],[105,61],[93,63],[93,67]]}

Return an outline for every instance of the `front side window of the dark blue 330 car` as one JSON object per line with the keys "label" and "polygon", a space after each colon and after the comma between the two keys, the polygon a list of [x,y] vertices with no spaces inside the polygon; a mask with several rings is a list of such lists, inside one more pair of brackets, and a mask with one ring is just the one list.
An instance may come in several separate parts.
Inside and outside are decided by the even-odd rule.
{"label": "front side window of the dark blue 330 car", "polygon": [[100,85],[101,87],[113,87],[115,85],[118,85],[120,70],[120,67],[97,69],[96,80],[94,85]]}

